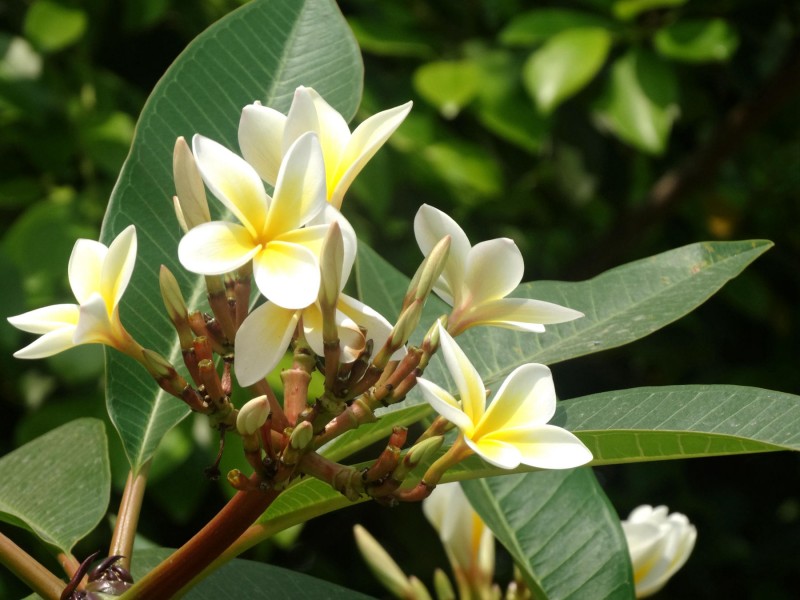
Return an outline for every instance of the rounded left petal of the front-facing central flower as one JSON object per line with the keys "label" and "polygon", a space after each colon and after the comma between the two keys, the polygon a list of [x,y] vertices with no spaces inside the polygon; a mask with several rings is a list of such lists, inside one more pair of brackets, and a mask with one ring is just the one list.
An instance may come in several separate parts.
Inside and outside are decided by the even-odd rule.
{"label": "rounded left petal of the front-facing central flower", "polygon": [[192,273],[222,275],[247,264],[261,249],[243,226],[212,221],[183,236],[178,259]]}

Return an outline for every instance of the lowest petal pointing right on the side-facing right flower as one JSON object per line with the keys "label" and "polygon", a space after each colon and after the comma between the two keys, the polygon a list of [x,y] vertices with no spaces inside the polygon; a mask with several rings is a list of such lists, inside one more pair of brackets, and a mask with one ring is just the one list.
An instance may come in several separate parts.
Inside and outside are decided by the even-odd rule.
{"label": "lowest petal pointing right on the side-facing right flower", "polygon": [[466,327],[491,325],[517,331],[541,333],[545,324],[566,323],[583,313],[566,306],[531,298],[501,298],[475,306],[463,318]]}

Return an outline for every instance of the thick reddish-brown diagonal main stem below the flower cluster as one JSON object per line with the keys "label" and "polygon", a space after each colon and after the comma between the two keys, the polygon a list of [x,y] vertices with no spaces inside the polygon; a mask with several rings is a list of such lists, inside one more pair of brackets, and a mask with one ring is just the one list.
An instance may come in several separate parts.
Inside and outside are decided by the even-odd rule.
{"label": "thick reddish-brown diagonal main stem below the flower cluster", "polygon": [[238,492],[203,529],[130,588],[124,600],[168,600],[219,557],[278,497]]}

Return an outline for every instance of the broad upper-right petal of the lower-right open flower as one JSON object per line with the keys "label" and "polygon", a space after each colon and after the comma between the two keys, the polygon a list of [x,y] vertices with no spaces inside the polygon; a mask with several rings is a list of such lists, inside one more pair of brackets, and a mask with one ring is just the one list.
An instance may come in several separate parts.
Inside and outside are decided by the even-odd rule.
{"label": "broad upper-right petal of the lower-right open flower", "polygon": [[544,365],[528,363],[514,369],[489,404],[475,437],[503,429],[544,425],[556,410],[553,376]]}

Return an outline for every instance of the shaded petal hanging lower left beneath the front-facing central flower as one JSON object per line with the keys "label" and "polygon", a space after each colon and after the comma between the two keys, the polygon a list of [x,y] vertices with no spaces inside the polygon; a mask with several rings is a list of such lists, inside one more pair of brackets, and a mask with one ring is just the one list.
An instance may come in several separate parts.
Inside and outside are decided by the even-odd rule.
{"label": "shaded petal hanging lower left beneath the front-facing central flower", "polygon": [[292,340],[297,311],[266,302],[251,312],[236,332],[234,370],[247,387],[266,377],[280,362]]}

